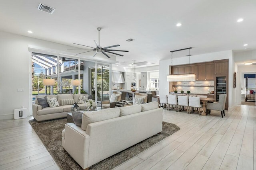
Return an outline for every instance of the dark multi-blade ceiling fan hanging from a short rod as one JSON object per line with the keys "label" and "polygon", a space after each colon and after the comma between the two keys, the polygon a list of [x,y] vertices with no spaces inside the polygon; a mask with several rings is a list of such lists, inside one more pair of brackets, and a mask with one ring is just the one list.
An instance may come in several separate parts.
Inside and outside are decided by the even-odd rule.
{"label": "dark multi-blade ceiling fan hanging from a short rod", "polygon": [[[101,30],[101,28],[98,27],[97,30],[99,31],[99,43],[97,43],[97,41],[94,40],[94,43],[96,44],[96,48],[90,47],[90,46],[87,46],[87,45],[82,45],[82,46],[85,46],[85,47],[90,47],[91,49],[68,49],[68,50],[90,50],[90,51],[96,51],[96,53],[93,55],[93,57],[95,57],[95,55],[97,53],[98,54],[102,53],[102,54],[106,55],[106,57],[108,57],[108,58],[110,58],[110,57],[106,53],[111,53],[111,54],[115,54],[115,55],[119,55],[119,56],[124,56],[124,55],[121,55],[121,54],[118,54],[118,53],[113,53],[111,51],[129,52],[129,51],[126,51],[126,50],[112,50],[112,49],[110,49],[112,47],[118,47],[120,45],[111,45],[111,46],[102,48],[100,46],[100,30]],[[73,44],[76,44],[76,43],[73,43]],[[76,44],[76,45],[81,45],[81,44]],[[86,51],[86,52],[82,52],[82,53],[87,53],[87,52],[90,52],[90,51]],[[78,53],[78,54],[82,54],[82,53]],[[78,54],[76,54],[76,55],[78,55]]]}

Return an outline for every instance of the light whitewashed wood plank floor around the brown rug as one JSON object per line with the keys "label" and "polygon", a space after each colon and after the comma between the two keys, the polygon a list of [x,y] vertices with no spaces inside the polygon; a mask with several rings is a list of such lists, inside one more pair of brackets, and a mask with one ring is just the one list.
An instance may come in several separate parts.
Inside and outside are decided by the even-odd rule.
{"label": "light whitewashed wood plank floor around the brown rug", "polygon": [[[256,169],[256,106],[236,106],[225,113],[222,118],[217,111],[199,116],[164,110],[163,121],[180,131],[115,170]],[[29,119],[0,121],[0,170],[58,169]]]}

